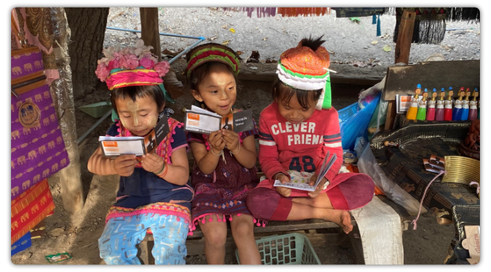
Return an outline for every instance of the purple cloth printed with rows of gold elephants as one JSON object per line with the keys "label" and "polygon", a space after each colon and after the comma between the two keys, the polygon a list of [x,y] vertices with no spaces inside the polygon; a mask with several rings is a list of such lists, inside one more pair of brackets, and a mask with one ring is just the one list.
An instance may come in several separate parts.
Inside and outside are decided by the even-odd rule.
{"label": "purple cloth printed with rows of gold elephants", "polygon": [[11,96],[11,200],[68,166],[62,131],[46,80],[15,88]]}

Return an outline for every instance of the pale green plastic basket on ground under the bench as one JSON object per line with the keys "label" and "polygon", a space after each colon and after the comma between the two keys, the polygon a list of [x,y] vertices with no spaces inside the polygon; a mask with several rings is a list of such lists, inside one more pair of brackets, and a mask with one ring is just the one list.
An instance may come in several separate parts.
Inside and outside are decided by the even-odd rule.
{"label": "pale green plastic basket on ground under the bench", "polygon": [[[262,264],[321,264],[311,241],[300,233],[266,236],[256,244]],[[240,264],[237,250],[235,258]]]}

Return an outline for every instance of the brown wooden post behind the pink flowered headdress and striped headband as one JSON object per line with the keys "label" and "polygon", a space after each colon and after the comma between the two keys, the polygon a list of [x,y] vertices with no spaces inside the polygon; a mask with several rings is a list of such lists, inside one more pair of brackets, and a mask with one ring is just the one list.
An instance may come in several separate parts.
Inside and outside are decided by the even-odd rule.
{"label": "brown wooden post behind the pink flowered headdress and striped headband", "polygon": [[151,50],[162,60],[160,56],[160,35],[158,34],[158,8],[140,8],[140,20],[142,21],[142,40],[145,46],[152,46]]}

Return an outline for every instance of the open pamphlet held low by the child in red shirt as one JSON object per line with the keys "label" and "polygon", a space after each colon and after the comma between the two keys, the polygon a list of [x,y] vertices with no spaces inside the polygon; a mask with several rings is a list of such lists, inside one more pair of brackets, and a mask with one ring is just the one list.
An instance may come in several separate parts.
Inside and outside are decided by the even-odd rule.
{"label": "open pamphlet held low by the child in red shirt", "polygon": [[[298,190],[304,190],[304,191],[309,191],[313,192],[315,191],[315,188],[317,188],[317,185],[321,182],[322,178],[326,175],[327,171],[331,166],[334,164],[336,161],[336,154],[333,154],[333,157],[328,160],[329,157],[329,152],[327,153],[326,157],[324,158],[324,162],[322,162],[322,167],[320,168],[319,175],[317,175],[317,180],[315,181],[315,184],[313,186],[308,185],[308,182],[311,181],[311,177],[315,173],[307,173],[307,172],[297,172],[297,171],[288,171],[290,172],[290,182],[287,183],[281,183],[279,180],[275,180],[275,184],[273,186],[284,186],[288,188],[294,188]],[[329,184],[329,181],[326,181],[326,185]]]}

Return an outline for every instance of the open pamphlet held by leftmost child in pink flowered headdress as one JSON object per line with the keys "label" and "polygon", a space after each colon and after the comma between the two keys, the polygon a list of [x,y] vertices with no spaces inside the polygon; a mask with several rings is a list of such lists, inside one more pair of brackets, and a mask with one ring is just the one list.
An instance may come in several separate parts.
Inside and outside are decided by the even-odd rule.
{"label": "open pamphlet held by leftmost child in pink flowered headdress", "polygon": [[169,133],[169,123],[165,113],[159,115],[160,119],[151,132],[145,137],[106,137],[100,136],[99,142],[102,153],[107,157],[124,154],[141,156],[151,153]]}

